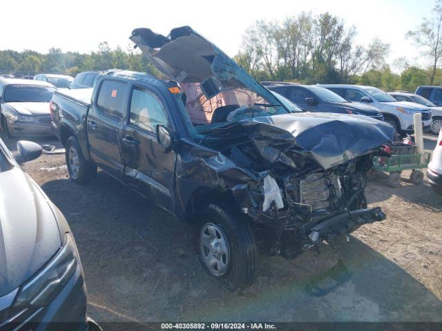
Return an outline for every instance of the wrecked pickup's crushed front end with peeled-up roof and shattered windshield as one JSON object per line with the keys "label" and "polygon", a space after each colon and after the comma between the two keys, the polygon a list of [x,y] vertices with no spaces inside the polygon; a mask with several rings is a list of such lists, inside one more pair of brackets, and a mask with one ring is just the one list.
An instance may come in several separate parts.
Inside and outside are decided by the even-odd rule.
{"label": "wrecked pickup's crushed front end with peeled-up roof and shattered windshield", "polygon": [[363,116],[291,113],[186,26],[167,37],[136,29],[131,40],[183,91],[174,97],[193,140],[181,141],[177,158],[177,214],[197,190],[227,192],[265,248],[287,258],[385,219],[379,208],[367,208],[365,173],[392,141],[392,126]]}

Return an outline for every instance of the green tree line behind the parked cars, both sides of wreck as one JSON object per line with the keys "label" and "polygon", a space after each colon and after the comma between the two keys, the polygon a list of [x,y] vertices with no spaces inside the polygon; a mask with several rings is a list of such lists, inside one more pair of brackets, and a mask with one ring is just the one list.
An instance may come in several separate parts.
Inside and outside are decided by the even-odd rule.
{"label": "green tree line behind the parked cars, both sides of wreck", "polygon": [[[300,83],[358,83],[383,90],[414,91],[419,85],[442,85],[442,0],[437,0],[430,17],[404,36],[429,60],[430,66],[411,66],[396,59],[396,70],[386,63],[390,45],[375,38],[366,45],[356,43],[357,30],[329,12],[301,12],[284,21],[256,21],[244,33],[234,59],[258,81]],[[32,50],[0,51],[0,73],[64,72],[120,68],[157,74],[138,50],[128,46],[111,49],[99,43],[89,54],[48,54]],[[399,70],[398,70],[399,69]],[[398,73],[398,71],[400,73]]]}

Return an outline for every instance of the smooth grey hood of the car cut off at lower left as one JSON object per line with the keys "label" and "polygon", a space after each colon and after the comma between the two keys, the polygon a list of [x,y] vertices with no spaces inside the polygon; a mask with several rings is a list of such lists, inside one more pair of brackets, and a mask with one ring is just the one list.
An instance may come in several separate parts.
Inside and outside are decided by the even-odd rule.
{"label": "smooth grey hood of the car cut off at lower left", "polygon": [[19,168],[0,172],[0,297],[32,277],[61,246],[48,198]]}

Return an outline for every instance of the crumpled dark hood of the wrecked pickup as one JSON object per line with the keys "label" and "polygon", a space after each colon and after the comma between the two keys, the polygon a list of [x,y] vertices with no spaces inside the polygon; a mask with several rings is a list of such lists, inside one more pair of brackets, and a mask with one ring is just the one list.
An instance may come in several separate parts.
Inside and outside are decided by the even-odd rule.
{"label": "crumpled dark hood of the wrecked pickup", "polygon": [[320,112],[254,117],[202,132],[209,141],[244,134],[269,168],[282,163],[297,170],[305,163],[332,168],[391,142],[393,133],[376,119]]}

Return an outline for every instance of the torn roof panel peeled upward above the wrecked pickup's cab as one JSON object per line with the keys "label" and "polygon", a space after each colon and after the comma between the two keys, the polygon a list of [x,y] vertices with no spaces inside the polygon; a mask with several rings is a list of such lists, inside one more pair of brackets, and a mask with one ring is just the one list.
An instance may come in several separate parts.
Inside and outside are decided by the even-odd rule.
{"label": "torn roof panel peeled upward above the wrecked pickup's cab", "polygon": [[171,30],[168,37],[139,28],[133,30],[130,39],[162,74],[178,83],[199,83],[207,99],[228,88],[247,88],[279,103],[227,54],[189,26]]}

